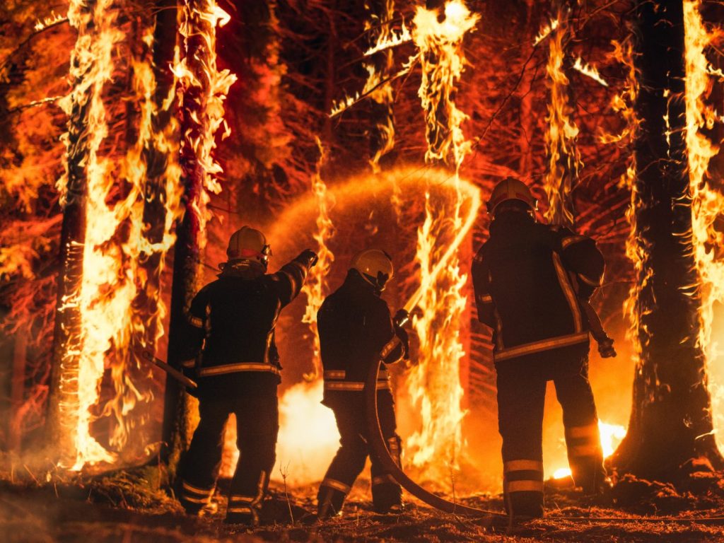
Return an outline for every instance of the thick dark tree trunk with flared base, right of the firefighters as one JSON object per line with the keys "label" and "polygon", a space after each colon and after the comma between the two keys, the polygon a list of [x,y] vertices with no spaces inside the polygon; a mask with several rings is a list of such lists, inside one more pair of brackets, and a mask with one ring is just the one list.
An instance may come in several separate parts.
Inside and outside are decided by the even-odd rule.
{"label": "thick dark tree trunk with flared base, right of the firefighters", "polygon": [[636,300],[640,360],[619,473],[676,480],[691,460],[722,458],[712,435],[704,355],[696,338],[699,304],[686,171],[684,35],[681,1],[637,1],[636,62],[641,119],[636,139],[635,214],[645,254]]}

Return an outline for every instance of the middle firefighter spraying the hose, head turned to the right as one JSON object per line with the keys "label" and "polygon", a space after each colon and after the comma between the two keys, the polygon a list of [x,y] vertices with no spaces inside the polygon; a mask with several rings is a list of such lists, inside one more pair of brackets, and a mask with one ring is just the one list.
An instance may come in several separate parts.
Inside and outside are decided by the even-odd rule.
{"label": "middle firefighter spraying the hose, head turned to the right", "polygon": [[[400,512],[402,489],[370,454],[363,388],[370,365],[395,335],[400,343],[384,359],[395,363],[408,356],[407,332],[390,318],[387,303],[380,298],[392,277],[392,260],[384,251],[368,249],[352,259],[342,286],[329,295],[317,313],[321,362],[324,366],[322,403],[334,411],[340,431],[340,448],[327,469],[317,494],[318,518],[340,515],[345,497],[371,460],[372,502],[377,513]],[[404,314],[403,314],[404,313]],[[395,322],[406,316],[400,310]],[[390,456],[400,463],[400,437],[395,430],[394,402],[387,369],[379,372],[377,402],[382,435]]]}

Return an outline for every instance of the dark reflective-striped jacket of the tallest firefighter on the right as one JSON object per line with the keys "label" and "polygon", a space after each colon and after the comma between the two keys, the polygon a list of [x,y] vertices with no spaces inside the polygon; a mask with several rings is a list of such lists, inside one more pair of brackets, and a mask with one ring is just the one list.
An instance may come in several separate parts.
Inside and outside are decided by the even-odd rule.
{"label": "dark reflective-striped jacket of the tallest firefighter on the right", "polygon": [[579,300],[601,285],[604,260],[590,237],[508,212],[490,224],[473,259],[478,319],[493,329],[494,361],[588,347]]}

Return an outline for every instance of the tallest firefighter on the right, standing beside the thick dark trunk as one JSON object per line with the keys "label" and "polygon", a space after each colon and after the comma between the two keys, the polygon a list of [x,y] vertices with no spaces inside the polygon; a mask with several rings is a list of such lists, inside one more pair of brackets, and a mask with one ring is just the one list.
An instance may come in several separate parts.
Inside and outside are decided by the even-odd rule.
{"label": "tallest firefighter on the right, standing beside the thick dark trunk", "polygon": [[536,206],[522,181],[498,183],[487,204],[490,237],[472,270],[478,319],[493,330],[505,505],[511,517],[531,518],[543,515],[549,380],[563,408],[576,486],[597,494],[610,484],[588,379],[591,327],[581,309],[601,285],[604,260],[590,237],[536,222]]}

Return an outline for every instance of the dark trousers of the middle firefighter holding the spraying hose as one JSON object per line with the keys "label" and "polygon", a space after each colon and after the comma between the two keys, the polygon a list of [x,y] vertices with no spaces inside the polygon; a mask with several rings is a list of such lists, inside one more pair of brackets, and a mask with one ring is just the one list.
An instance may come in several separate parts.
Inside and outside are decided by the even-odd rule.
{"label": "dark trousers of the middle firefighter holding the spraying hose", "polygon": [[[367,445],[367,423],[364,398],[361,392],[340,392],[326,405],[334,411],[337,429],[340,431],[340,448],[327,469],[324,481],[317,494],[320,516],[339,514],[345,497],[352,489],[357,476],[364,469],[367,456],[371,460],[372,503],[379,513],[401,505],[402,489],[395,479],[382,468]],[[389,390],[377,392],[377,413],[382,435],[387,442],[387,450],[400,464],[400,437],[395,432],[395,408],[392,393]]]}

